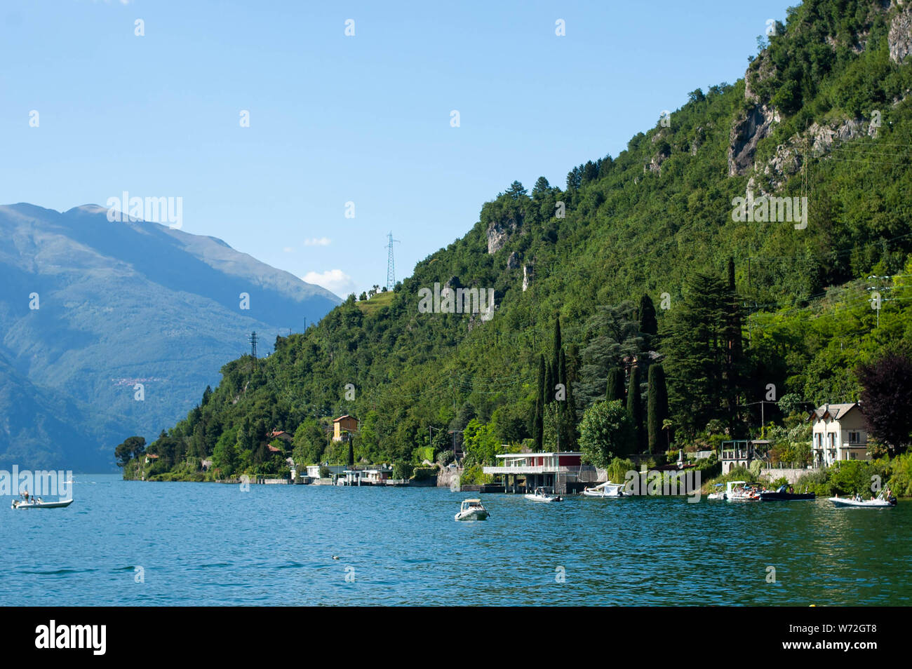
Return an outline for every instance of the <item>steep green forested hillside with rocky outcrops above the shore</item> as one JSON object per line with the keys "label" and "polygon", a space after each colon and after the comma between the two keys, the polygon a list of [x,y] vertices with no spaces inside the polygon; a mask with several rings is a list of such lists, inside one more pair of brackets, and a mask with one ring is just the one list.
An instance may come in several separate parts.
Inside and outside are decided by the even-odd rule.
{"label": "steep green forested hillside with rocky outcrops above the shore", "polygon": [[[668,423],[641,418],[627,451],[756,434],[771,385],[768,423],[857,399],[857,365],[912,345],[910,26],[910,10],[870,0],[789,10],[745,79],[693,90],[561,186],[514,182],[391,297],[349,298],[273,355],[224,365],[150,445],[148,473],[206,457],[221,476],[275,470],[272,430],[295,434],[299,463],[345,461],[324,433],[342,414],[361,421],[358,461],[432,459],[447,430],[465,430],[470,462],[559,435],[574,446],[586,409],[617,397],[616,370],[646,413],[657,360]],[[492,288],[492,317],[422,312],[435,283]],[[568,401],[549,413],[542,388],[562,382]]]}

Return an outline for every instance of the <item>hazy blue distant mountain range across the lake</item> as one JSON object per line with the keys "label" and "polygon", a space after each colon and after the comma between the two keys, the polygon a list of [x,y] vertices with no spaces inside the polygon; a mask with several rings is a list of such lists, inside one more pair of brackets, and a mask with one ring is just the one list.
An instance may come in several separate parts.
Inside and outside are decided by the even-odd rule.
{"label": "hazy blue distant mountain range across the lake", "polygon": [[185,416],[251,332],[266,355],[340,302],[222,240],[98,205],[0,206],[0,286],[0,468],[112,469],[124,437]]}

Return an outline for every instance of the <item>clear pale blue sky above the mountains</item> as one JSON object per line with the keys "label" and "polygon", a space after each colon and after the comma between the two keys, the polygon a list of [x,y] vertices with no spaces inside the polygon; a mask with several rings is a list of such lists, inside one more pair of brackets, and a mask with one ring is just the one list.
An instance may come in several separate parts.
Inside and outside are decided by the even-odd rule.
{"label": "clear pale blue sky above the mountains", "polygon": [[182,197],[184,231],[360,293],[387,232],[401,279],[514,179],[742,77],[790,4],[4,0],[0,203]]}

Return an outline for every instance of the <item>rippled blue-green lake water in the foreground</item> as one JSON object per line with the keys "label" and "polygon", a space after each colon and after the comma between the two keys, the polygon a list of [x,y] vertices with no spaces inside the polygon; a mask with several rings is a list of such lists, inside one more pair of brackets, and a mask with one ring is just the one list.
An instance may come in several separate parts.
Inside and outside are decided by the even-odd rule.
{"label": "rippled blue-green lake water in the foreground", "polygon": [[0,604],[912,604],[908,501],[483,495],[456,522],[473,494],[74,479],[67,509],[3,498]]}

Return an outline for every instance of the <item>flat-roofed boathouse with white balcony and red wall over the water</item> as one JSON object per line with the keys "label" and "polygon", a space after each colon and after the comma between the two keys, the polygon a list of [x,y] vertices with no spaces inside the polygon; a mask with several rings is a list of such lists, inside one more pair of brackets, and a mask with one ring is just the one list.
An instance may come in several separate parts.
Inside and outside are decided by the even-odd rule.
{"label": "flat-roofed boathouse with white balcony and red wall over the water", "polygon": [[[483,467],[485,474],[503,480],[506,492],[524,492],[544,488],[556,494],[576,492],[586,483],[595,483],[596,468],[583,464],[580,451],[557,453],[504,453],[495,456],[496,465]],[[520,483],[523,479],[523,483]]]}

